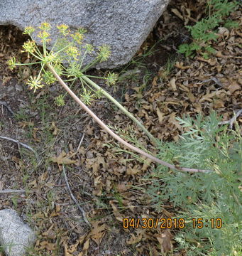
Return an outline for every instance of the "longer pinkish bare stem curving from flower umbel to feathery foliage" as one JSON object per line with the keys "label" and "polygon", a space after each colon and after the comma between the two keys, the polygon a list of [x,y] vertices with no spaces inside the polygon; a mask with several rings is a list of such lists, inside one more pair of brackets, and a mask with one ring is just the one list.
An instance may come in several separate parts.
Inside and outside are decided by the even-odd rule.
{"label": "longer pinkish bare stem curving from flower umbel to feathery foliage", "polygon": [[148,153],[146,153],[145,151],[138,149],[136,146],[133,146],[131,144],[129,144],[128,142],[126,142],[125,140],[123,140],[121,137],[119,137],[117,134],[115,134],[111,129],[109,129],[109,127],[106,126],[106,124],[104,124],[104,122],[101,121],[101,119],[99,119],[99,117],[96,116],[96,114],[94,114],[94,112],[92,112],[91,110],[89,110],[89,108],[84,105],[84,103],[79,100],[79,97],[77,97],[77,95],[75,95],[74,92],[72,92],[72,90],[70,90],[70,88],[65,84],[65,82],[60,78],[60,76],[55,72],[55,69],[53,68],[52,65],[50,65],[50,63],[46,64],[48,66],[48,68],[50,69],[50,71],[53,73],[53,75],[55,75],[55,78],[60,82],[60,85],[62,85],[62,87],[65,88],[65,90],[70,94],[70,96],[103,128],[106,130],[106,132],[108,132],[111,137],[114,137],[114,139],[116,139],[117,141],[121,142],[121,144],[123,144],[124,146],[128,147],[128,149],[131,149],[133,151],[136,151],[138,154],[141,154],[145,157],[147,157],[148,159],[151,159],[153,161],[155,161],[158,164],[162,164],[163,166],[167,166],[170,169],[174,169],[177,171],[185,171],[185,172],[193,172],[193,173],[209,173],[211,172],[210,170],[202,170],[202,169],[191,169],[191,168],[185,168],[185,167],[180,167],[180,166],[175,166],[174,164],[169,164],[166,161],[162,161],[158,158],[156,158],[155,156],[152,156]]}

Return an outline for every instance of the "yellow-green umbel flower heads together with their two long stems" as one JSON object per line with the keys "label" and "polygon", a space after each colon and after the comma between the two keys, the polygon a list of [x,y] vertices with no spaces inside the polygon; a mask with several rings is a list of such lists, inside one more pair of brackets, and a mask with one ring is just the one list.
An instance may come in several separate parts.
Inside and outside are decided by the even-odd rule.
{"label": "yellow-green umbel flower heads together with their two long stems", "polygon": [[[136,146],[133,146],[126,142],[125,140],[121,139],[119,135],[115,134],[109,127],[104,124],[104,122],[99,119],[99,117],[94,114],[87,105],[89,105],[92,100],[101,95],[107,97],[111,102],[116,105],[124,114],[130,117],[133,122],[135,122],[138,127],[140,127],[145,134],[148,135],[150,140],[153,144],[157,144],[158,140],[153,137],[150,132],[138,121],[133,114],[128,112],[119,102],[117,102],[114,97],[111,97],[108,92],[106,92],[103,88],[99,87],[96,82],[92,80],[92,78],[97,78],[92,75],[87,75],[86,71],[91,68],[96,63],[100,63],[105,61],[109,58],[110,55],[110,48],[109,46],[100,46],[97,49],[97,55],[94,60],[89,63],[88,65],[84,66],[84,58],[87,54],[92,54],[94,51],[93,46],[89,44],[83,44],[82,40],[84,38],[83,33],[85,32],[84,29],[79,28],[75,33],[71,33],[70,29],[67,25],[62,24],[57,26],[57,29],[60,33],[60,37],[55,41],[51,50],[48,51],[47,46],[50,42],[50,24],[49,23],[42,23],[38,28],[38,38],[43,43],[43,50],[41,51],[35,44],[35,41],[28,40],[23,44],[23,51],[28,53],[29,57],[35,59],[33,63],[18,63],[16,62],[16,58],[11,58],[8,60],[9,68],[13,69],[16,66],[22,65],[40,65],[40,72],[38,75],[31,77],[27,85],[30,87],[31,90],[34,92],[43,88],[45,85],[50,85],[53,82],[57,81],[64,87],[64,89],[69,93],[69,95],[92,117],[95,121],[108,132],[114,139],[118,140],[124,146],[128,147],[133,151],[136,151],[138,154],[142,154],[143,156],[147,157],[148,159],[152,159],[153,161],[157,162],[158,164],[164,164],[165,166],[171,169],[177,169],[179,171],[192,171],[192,172],[207,172],[207,170],[202,169],[187,169],[180,166],[175,166],[174,164],[169,164],[165,161],[162,161],[155,156],[148,154],[147,152],[138,149]],[[31,34],[35,31],[35,28],[31,26],[27,27],[24,33],[31,36]],[[67,63],[67,65],[63,65],[62,63]],[[66,80],[62,80],[62,77],[67,78]],[[113,73],[109,73],[106,80],[107,85],[114,85],[117,77]],[[82,93],[80,97],[82,100],[75,95],[70,87],[76,82],[79,81],[82,86]],[[70,84],[70,87],[67,85]],[[65,95],[59,95],[55,99],[55,103],[57,105],[64,105]],[[86,105],[85,105],[86,104]]]}

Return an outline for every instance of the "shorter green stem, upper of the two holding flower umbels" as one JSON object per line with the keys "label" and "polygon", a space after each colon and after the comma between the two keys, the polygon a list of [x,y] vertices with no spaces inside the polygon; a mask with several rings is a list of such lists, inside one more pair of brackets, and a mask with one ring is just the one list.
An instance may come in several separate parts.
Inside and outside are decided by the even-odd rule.
{"label": "shorter green stem, upper of the two holding flower umbels", "polygon": [[150,134],[150,132],[148,131],[148,129],[146,129],[143,124],[141,124],[141,122],[139,122],[136,117],[133,116],[133,114],[131,114],[130,112],[128,112],[128,110],[126,110],[126,108],[124,108],[119,102],[117,102],[114,97],[112,97],[111,95],[109,95],[108,92],[106,92],[104,89],[102,89],[101,87],[99,87],[99,85],[97,85],[95,82],[93,82],[92,80],[90,80],[89,78],[87,78],[87,76],[83,75],[82,78],[83,80],[85,80],[87,83],[89,83],[89,85],[92,85],[93,87],[95,87],[95,89],[97,90],[101,90],[101,93],[107,97],[109,100],[111,100],[111,102],[113,102],[117,107],[119,107],[119,109],[126,114],[130,119],[133,120],[133,122],[135,122],[138,127],[140,127],[143,132],[145,132],[145,134],[150,138],[150,140],[152,142],[155,143],[155,145],[158,143],[158,140],[155,139],[155,137],[153,137],[152,134]]}

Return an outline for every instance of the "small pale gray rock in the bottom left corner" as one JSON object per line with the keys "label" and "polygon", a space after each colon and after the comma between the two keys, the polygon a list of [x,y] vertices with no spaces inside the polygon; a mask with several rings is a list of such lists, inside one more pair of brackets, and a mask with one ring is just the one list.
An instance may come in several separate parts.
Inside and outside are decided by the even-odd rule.
{"label": "small pale gray rock in the bottom left corner", "polygon": [[35,234],[15,210],[0,210],[0,246],[7,256],[23,256],[33,245]]}

